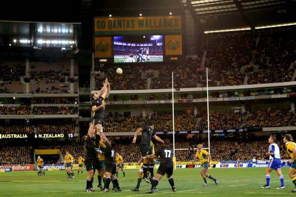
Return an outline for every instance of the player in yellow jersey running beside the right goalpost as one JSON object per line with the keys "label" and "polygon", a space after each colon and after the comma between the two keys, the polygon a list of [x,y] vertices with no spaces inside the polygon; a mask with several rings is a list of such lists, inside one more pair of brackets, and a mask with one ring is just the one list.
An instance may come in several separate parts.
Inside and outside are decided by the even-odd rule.
{"label": "player in yellow jersey running beside the right goalpost", "polygon": [[216,186],[217,186],[219,180],[215,179],[214,177],[212,177],[211,175],[208,174],[208,168],[211,165],[211,155],[206,150],[202,149],[203,148],[202,144],[198,144],[197,148],[198,148],[198,151],[196,152],[196,157],[192,163],[194,164],[197,160],[199,160],[201,163],[200,174],[201,174],[202,178],[204,179],[204,184],[202,186],[208,185],[206,177],[215,181]]}

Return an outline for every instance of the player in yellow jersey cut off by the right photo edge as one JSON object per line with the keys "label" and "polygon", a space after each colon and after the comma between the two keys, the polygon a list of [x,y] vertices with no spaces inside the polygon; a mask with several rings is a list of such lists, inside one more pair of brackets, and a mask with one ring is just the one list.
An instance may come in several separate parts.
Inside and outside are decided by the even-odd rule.
{"label": "player in yellow jersey cut off by the right photo edge", "polygon": [[289,161],[291,165],[290,170],[289,170],[289,176],[291,178],[291,181],[294,183],[295,188],[291,190],[291,192],[296,192],[296,143],[293,142],[293,138],[291,134],[286,134],[284,136],[283,142],[286,144],[287,147],[287,153],[290,155],[291,160]]}

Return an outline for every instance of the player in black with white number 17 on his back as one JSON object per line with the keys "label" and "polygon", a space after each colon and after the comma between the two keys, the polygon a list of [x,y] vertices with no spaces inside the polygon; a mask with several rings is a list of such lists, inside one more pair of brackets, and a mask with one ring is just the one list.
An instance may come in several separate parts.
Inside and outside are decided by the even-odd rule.
{"label": "player in black with white number 17 on his back", "polygon": [[151,189],[149,189],[146,193],[153,193],[155,187],[158,185],[160,179],[166,174],[170,185],[172,186],[172,191],[176,192],[173,175],[173,150],[169,147],[170,140],[165,139],[164,144],[161,148],[159,148],[154,155],[148,155],[152,159],[156,159],[160,156],[160,166],[157,170],[155,179],[153,181]]}

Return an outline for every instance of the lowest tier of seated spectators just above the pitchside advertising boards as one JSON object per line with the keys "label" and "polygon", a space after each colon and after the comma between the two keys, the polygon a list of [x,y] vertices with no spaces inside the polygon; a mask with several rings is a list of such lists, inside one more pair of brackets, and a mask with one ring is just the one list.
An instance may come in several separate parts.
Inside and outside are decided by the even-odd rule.
{"label": "lowest tier of seated spectators just above the pitchside advertising boards", "polygon": [[[159,136],[164,138],[164,136]],[[167,137],[167,136],[166,136]],[[171,136],[169,138],[172,138]],[[266,156],[268,151],[268,138],[269,136],[255,136],[251,139],[247,138],[236,138],[236,137],[211,137],[210,141],[210,152],[212,161],[251,161],[253,157],[256,160],[269,160]],[[139,149],[139,139],[136,144],[131,143],[129,138],[115,139],[117,142],[116,150],[119,151],[120,155],[123,156],[125,163],[136,163],[141,157]],[[170,139],[172,142],[172,139]],[[153,140],[155,150],[160,148],[162,144]],[[182,138],[181,136],[175,138],[175,149],[188,149],[188,150],[176,150],[176,161],[177,162],[191,162],[194,160],[196,155],[196,145],[202,143],[205,148],[208,147],[207,138]],[[280,147],[281,159],[288,159],[286,153],[286,147],[282,142],[282,137],[278,138],[276,142]],[[227,146],[225,145],[227,144]],[[170,145],[172,146],[172,145]],[[80,155],[84,157],[84,144],[76,143],[71,141],[54,141],[47,142],[40,145],[35,145],[35,149],[61,149],[62,155],[68,151],[75,159],[75,163],[78,162]],[[172,148],[172,147],[171,147]],[[9,164],[29,164],[30,160],[30,149],[29,146],[6,146],[0,150],[2,165]],[[159,161],[159,159],[157,159]],[[32,163],[31,163],[32,164]]]}

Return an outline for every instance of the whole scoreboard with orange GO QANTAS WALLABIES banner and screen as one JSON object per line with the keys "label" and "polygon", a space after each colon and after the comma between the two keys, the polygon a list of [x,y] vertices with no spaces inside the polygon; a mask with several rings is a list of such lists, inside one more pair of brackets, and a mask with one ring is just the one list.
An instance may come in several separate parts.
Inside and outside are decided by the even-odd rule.
{"label": "whole scoreboard with orange GO QANTAS WALLABIES banner and screen", "polygon": [[134,63],[181,62],[186,47],[182,24],[182,16],[95,17],[94,57],[106,63],[128,58]]}

